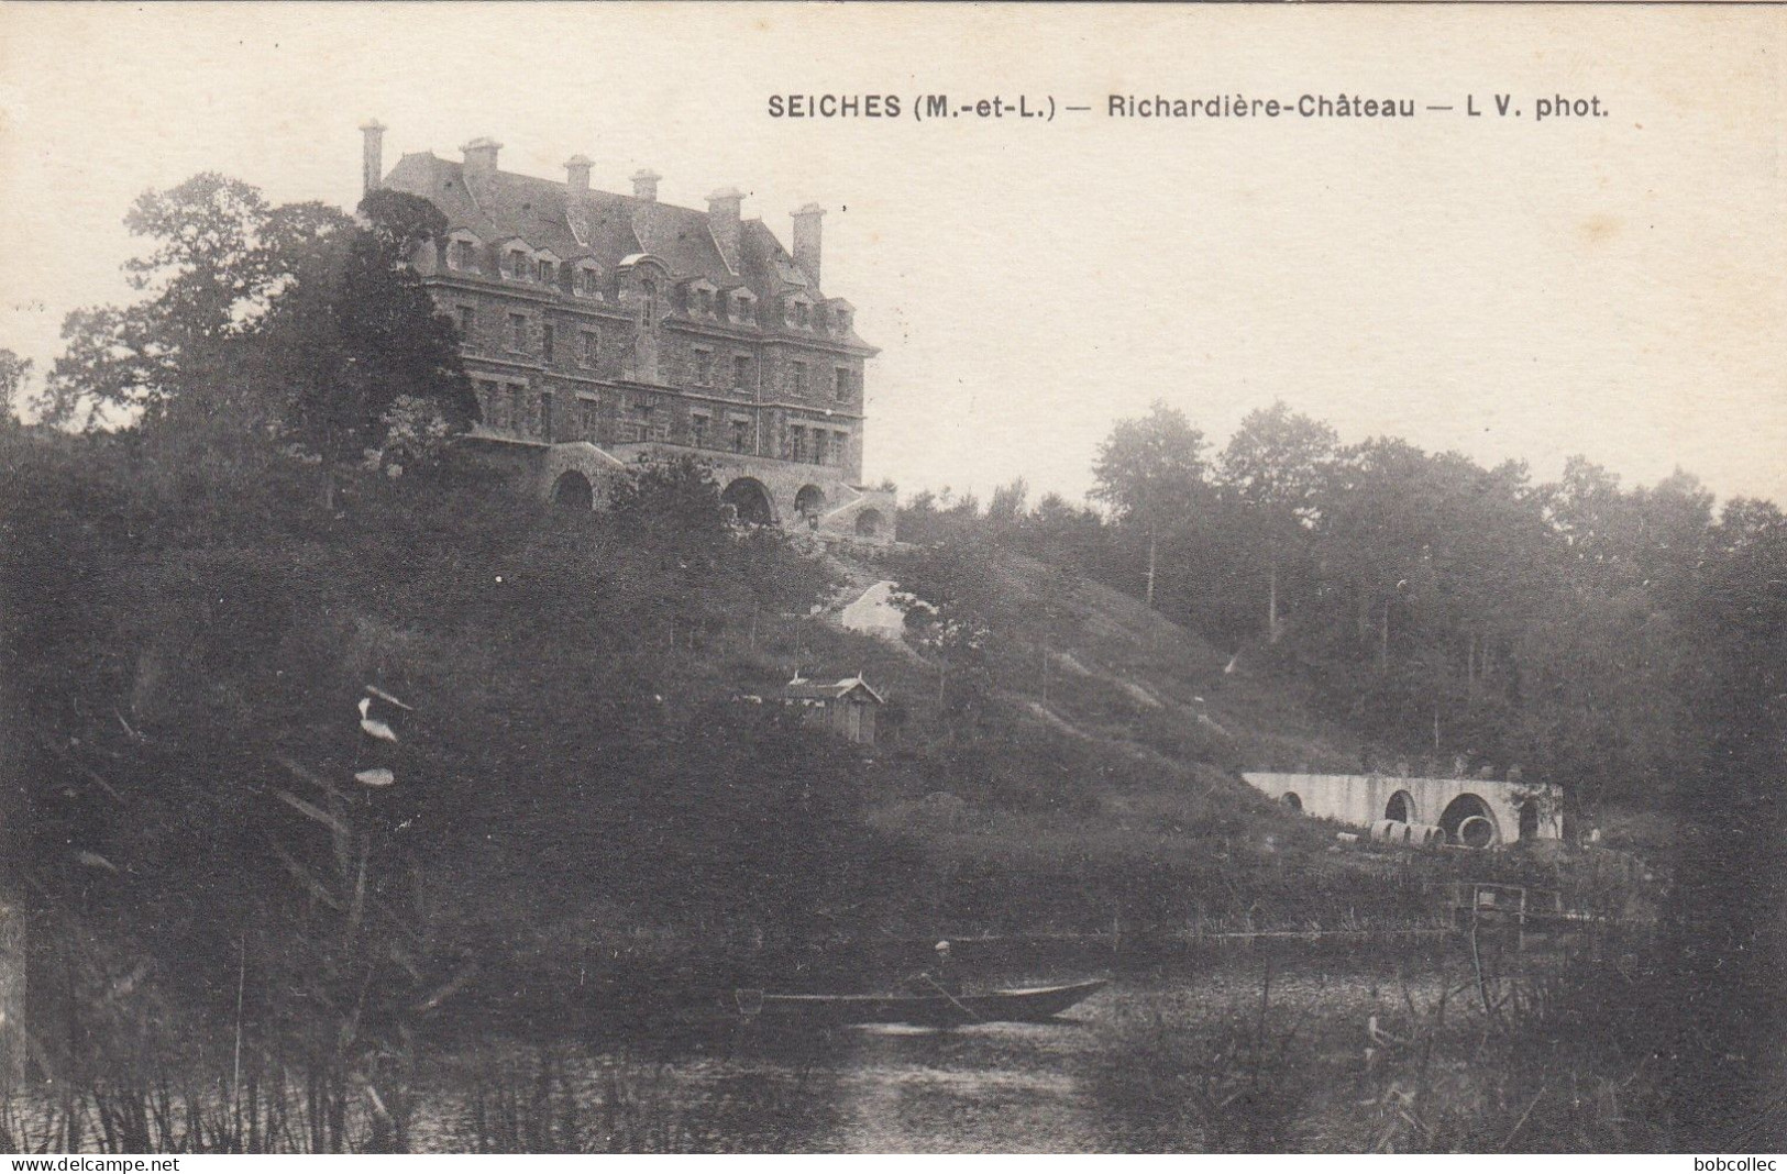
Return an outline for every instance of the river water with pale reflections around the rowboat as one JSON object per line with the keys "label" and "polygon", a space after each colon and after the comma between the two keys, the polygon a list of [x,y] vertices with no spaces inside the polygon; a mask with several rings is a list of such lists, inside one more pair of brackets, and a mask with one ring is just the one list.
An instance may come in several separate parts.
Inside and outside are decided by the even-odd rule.
{"label": "river water with pale reflections around the rowboat", "polygon": [[[456,1076],[438,1085],[441,1097],[424,1097],[456,1108],[418,1122],[416,1147],[1344,1149],[1353,1138],[1301,1119],[1322,1117],[1335,1074],[1365,1074],[1372,1017],[1392,1024],[1414,1006],[1433,1006],[1442,992],[1462,997],[1467,977],[1456,945],[1439,938],[1115,952],[969,942],[958,945],[958,960],[970,986],[1094,974],[1113,981],[1047,1024],[808,1031],[715,1013],[625,1042],[536,1038],[479,1049],[452,1065]],[[788,986],[811,990],[820,979],[797,974]],[[466,1081],[479,1092],[450,1092]],[[1246,1101],[1262,1081],[1276,1101]],[[1246,1117],[1237,1117],[1235,1103],[1251,1106]],[[1231,1135],[1217,1136],[1222,1129]]]}

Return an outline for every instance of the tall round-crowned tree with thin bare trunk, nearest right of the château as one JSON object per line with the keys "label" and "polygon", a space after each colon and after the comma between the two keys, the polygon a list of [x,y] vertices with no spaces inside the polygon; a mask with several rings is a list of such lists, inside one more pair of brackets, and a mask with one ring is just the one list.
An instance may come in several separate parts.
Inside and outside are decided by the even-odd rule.
{"label": "tall round-crowned tree with thin bare trunk, nearest right of the ch\u00e2teau", "polygon": [[1160,538],[1210,499],[1204,434],[1176,407],[1156,400],[1140,420],[1120,420],[1099,445],[1092,497],[1147,538],[1147,606],[1154,606]]}

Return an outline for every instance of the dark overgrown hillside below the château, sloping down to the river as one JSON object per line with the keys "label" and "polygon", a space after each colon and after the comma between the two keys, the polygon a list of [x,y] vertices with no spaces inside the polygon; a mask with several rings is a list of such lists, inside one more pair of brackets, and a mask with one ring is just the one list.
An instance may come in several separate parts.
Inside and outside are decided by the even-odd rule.
{"label": "dark overgrown hillside below the ch\u00e2teau, sloping down to the river", "polygon": [[[1337,852],[1240,781],[1356,761],[1294,684],[1010,552],[827,561],[731,531],[695,468],[586,516],[466,470],[322,509],[281,459],[104,441],[14,440],[5,472],[14,860],[45,926],[105,926],[96,974],[259,949],[332,990],[343,940],[388,938],[393,997],[468,965],[663,990],[824,942],[1426,922],[1453,867]],[[883,577],[985,638],[811,608]],[[881,743],[774,704],[797,670],[863,674]],[[366,686],[413,706],[384,790]]]}

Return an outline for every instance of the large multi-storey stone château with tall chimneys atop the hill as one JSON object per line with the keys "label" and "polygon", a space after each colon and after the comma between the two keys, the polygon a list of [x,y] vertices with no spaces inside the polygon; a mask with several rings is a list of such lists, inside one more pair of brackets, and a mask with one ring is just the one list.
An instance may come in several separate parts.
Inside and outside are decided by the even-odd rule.
{"label": "large multi-storey stone ch\u00e2teau with tall chimneys atop the hill", "polygon": [[447,238],[416,270],[459,323],[482,422],[468,438],[541,493],[588,504],[643,456],[693,454],[740,518],[886,541],[894,495],[861,482],[863,366],[877,352],[856,309],[826,297],[824,211],[793,213],[793,252],[743,197],[708,209],[497,168],[500,145],[463,161],[406,154],[384,172],[384,127],[361,127],[366,191],[432,202]]}

